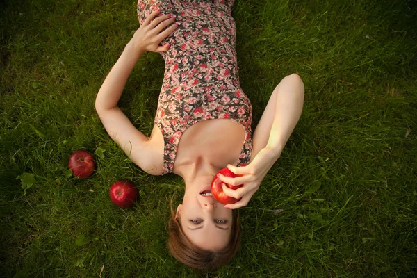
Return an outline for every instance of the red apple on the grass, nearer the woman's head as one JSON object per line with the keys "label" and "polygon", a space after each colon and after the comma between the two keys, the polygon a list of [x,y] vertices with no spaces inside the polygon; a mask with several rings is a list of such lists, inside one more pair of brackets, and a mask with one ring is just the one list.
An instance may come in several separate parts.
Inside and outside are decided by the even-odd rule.
{"label": "red apple on the grass, nearer the woman's head", "polygon": [[121,208],[129,208],[138,197],[138,188],[131,181],[116,181],[110,188],[110,199]]}

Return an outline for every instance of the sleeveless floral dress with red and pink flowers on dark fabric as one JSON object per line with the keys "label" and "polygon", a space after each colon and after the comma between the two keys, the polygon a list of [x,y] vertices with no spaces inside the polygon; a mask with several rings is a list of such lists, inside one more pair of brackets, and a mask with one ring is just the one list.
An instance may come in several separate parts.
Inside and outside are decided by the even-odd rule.
{"label": "sleeveless floral dress with red and pink flowers on dark fabric", "polygon": [[234,0],[139,0],[139,23],[157,8],[175,15],[178,28],[161,45],[165,73],[155,124],[163,134],[162,174],[172,172],[179,140],[202,120],[229,119],[245,130],[238,166],[250,161],[252,104],[240,88]]}

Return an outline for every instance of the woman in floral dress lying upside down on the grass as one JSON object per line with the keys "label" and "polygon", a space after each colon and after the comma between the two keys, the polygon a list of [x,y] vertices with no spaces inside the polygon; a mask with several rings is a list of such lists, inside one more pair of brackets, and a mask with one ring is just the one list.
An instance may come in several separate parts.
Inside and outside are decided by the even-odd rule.
{"label": "woman in floral dress lying upside down on the grass", "polygon": [[[171,208],[168,245],[181,263],[199,270],[218,268],[236,254],[240,226],[231,210],[246,206],[258,190],[300,119],[304,101],[300,76],[286,76],[252,136],[252,105],[238,77],[233,2],[139,0],[140,28],[95,101],[106,131],[131,161],[148,174],[172,172],[184,179],[183,204],[176,213]],[[149,137],[117,107],[129,74],[146,51],[165,60]],[[227,195],[242,198],[224,206],[213,199],[210,185],[226,166],[243,176],[220,179],[244,186],[224,187]]]}

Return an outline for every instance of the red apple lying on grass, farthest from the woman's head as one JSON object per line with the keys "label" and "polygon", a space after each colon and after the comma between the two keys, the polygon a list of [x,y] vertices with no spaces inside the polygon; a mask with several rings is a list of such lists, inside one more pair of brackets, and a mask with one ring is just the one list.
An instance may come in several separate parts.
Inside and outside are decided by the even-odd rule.
{"label": "red apple lying on grass, farthest from the woman's head", "polygon": [[83,150],[76,151],[70,156],[68,167],[76,177],[90,177],[95,172],[94,156]]}

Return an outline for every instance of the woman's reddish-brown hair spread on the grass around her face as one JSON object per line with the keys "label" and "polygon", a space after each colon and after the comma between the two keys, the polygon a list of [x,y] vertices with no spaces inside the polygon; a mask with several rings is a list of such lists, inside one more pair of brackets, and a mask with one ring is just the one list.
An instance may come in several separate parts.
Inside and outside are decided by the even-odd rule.
{"label": "woman's reddish-brown hair spread on the grass around her face", "polygon": [[213,252],[202,250],[193,244],[184,234],[181,222],[175,217],[171,204],[171,219],[169,222],[170,238],[168,247],[170,253],[179,262],[197,270],[213,270],[226,265],[240,248],[240,223],[239,215],[232,211],[232,225],[229,244],[222,250]]}

